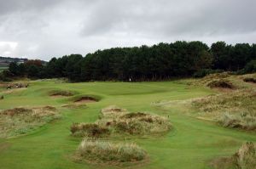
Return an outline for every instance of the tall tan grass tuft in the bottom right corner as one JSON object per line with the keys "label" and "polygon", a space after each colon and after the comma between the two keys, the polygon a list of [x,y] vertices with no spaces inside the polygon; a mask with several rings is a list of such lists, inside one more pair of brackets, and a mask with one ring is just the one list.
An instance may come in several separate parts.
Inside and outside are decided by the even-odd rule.
{"label": "tall tan grass tuft in the bottom right corner", "polygon": [[255,169],[256,146],[253,143],[242,144],[235,155],[212,161],[211,166],[215,169]]}

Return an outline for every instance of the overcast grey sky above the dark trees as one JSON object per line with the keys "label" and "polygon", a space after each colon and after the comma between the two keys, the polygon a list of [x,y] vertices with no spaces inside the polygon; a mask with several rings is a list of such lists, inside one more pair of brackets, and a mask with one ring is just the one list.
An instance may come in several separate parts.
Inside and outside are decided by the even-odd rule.
{"label": "overcast grey sky above the dark trees", "polygon": [[177,40],[256,43],[256,0],[0,0],[0,55],[45,59]]}

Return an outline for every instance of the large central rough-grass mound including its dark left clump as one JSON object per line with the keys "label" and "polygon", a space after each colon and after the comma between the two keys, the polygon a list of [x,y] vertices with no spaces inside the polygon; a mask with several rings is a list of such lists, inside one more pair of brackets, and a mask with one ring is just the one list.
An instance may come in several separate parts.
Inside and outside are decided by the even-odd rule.
{"label": "large central rough-grass mound including its dark left clump", "polygon": [[115,106],[102,109],[102,115],[96,123],[74,123],[73,136],[98,138],[110,133],[131,135],[150,135],[168,132],[172,128],[170,121],[160,115],[148,113],[130,113]]}

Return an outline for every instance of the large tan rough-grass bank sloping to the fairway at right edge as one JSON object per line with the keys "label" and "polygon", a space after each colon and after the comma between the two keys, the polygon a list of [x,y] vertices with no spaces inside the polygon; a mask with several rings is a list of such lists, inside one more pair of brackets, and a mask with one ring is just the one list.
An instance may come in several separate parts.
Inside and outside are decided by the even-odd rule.
{"label": "large tan rough-grass bank sloping to the fairway at right edge", "polygon": [[203,116],[209,116],[224,127],[256,131],[256,90],[244,89],[196,99],[192,104]]}

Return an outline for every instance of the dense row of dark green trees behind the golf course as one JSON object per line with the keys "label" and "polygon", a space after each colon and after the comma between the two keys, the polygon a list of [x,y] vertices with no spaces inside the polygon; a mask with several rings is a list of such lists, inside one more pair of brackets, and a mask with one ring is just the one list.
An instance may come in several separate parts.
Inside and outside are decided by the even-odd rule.
{"label": "dense row of dark green trees behind the golf course", "polygon": [[50,59],[47,65],[39,60],[25,64],[12,63],[15,76],[36,78],[67,77],[82,81],[147,81],[172,77],[205,75],[218,70],[256,70],[256,44],[235,46],[215,42],[211,48],[203,42],[160,43],[152,47],[110,48],[83,57],[71,54]]}

